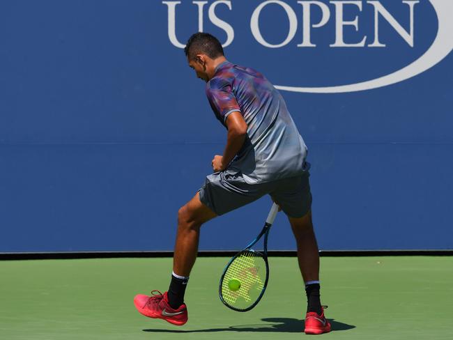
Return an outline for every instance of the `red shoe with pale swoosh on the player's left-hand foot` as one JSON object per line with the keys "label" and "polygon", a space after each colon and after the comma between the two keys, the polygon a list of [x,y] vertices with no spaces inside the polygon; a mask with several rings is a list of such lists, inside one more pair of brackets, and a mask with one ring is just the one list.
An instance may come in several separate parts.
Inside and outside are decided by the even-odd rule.
{"label": "red shoe with pale swoosh on the player's left-hand foot", "polygon": [[138,294],[134,297],[137,311],[148,318],[161,318],[169,323],[182,326],[187,323],[187,307],[182,304],[178,309],[173,309],[168,303],[167,292],[163,295],[160,291],[152,291],[151,296]]}

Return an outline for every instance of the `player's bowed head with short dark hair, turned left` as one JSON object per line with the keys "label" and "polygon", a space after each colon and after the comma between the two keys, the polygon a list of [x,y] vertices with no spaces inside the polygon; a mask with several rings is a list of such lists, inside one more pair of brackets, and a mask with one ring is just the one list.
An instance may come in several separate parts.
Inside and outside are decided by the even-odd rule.
{"label": "player's bowed head with short dark hair, turned left", "polygon": [[187,40],[184,53],[189,66],[195,70],[197,77],[205,82],[213,77],[219,61],[225,59],[222,44],[209,33],[192,34]]}

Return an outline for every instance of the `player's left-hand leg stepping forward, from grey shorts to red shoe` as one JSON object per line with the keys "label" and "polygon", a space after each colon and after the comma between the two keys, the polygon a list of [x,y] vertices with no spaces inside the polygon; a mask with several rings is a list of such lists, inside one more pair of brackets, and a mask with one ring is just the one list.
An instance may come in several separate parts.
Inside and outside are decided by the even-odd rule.
{"label": "player's left-hand leg stepping forward, from grey shorts to red shoe", "polygon": [[185,287],[197,258],[200,227],[217,215],[259,199],[267,194],[266,185],[249,185],[240,173],[228,171],[206,177],[199,192],[178,211],[178,233],[174,267],[169,290],[163,295],[137,295],[135,307],[150,318],[162,318],[175,325],[187,322]]}

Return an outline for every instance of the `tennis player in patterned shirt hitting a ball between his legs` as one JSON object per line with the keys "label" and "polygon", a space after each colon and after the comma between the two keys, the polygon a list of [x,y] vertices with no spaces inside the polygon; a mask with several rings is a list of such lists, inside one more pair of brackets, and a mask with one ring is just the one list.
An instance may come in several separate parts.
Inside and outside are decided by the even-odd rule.
{"label": "tennis player in patterned shirt hitting a ball between his legs", "polygon": [[195,33],[184,49],[217,119],[227,128],[223,155],[212,160],[213,173],[178,211],[171,283],[163,295],[137,295],[138,311],[174,325],[187,322],[184,294],[197,258],[200,227],[218,215],[269,194],[289,219],[305,281],[305,333],[330,332],[320,301],[318,245],[312,225],[312,194],[307,146],[300,137],[282,95],[252,68],[227,61],[219,40]]}

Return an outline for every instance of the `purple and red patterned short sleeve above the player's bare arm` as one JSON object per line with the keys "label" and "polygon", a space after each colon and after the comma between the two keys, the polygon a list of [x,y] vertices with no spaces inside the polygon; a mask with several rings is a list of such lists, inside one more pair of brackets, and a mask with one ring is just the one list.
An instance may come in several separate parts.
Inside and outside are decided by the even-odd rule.
{"label": "purple and red patterned short sleeve above the player's bare arm", "polygon": [[206,95],[215,116],[224,125],[229,114],[234,111],[240,112],[231,84],[224,79],[211,79],[208,86],[206,86]]}

